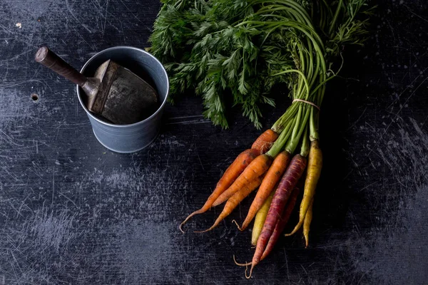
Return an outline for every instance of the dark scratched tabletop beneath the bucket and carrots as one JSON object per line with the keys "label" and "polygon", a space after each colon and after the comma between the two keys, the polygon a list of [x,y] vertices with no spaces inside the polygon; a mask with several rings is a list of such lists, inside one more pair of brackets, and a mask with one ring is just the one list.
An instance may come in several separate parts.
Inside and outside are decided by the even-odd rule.
{"label": "dark scratched tabletop beneath the bucket and carrots", "polygon": [[[34,62],[47,44],[76,68],[111,46],[146,47],[153,0],[0,0],[0,284],[428,284],[428,5],[377,1],[322,105],[325,166],[310,247],[300,234],[245,279],[244,201],[205,234],[200,207],[260,133],[230,129],[200,98],[165,110],[161,135],[120,155],[94,138],[72,83]],[[39,100],[32,100],[35,94]],[[264,128],[290,104],[277,90]]]}

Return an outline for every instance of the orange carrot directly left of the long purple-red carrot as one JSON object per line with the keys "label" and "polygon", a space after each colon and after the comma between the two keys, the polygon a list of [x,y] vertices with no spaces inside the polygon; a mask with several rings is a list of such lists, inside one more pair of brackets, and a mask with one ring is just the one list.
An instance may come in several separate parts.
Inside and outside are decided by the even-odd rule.
{"label": "orange carrot directly left of the long purple-red carrot", "polygon": [[280,152],[275,160],[272,162],[272,166],[267,170],[266,176],[263,179],[262,185],[255,195],[253,203],[248,210],[247,217],[245,217],[245,221],[243,222],[243,226],[240,227],[240,230],[243,231],[248,227],[248,224],[253,220],[257,211],[262,207],[263,203],[269,197],[270,192],[275,189],[277,182],[280,181],[282,175],[287,168],[288,162],[290,162],[290,153],[286,150]]}

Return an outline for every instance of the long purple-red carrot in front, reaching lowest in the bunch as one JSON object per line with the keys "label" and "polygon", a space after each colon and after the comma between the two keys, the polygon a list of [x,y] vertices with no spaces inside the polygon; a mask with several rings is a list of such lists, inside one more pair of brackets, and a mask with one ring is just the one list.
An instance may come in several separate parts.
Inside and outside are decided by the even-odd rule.
{"label": "long purple-red carrot in front, reaching lowest in the bunch", "polygon": [[251,277],[254,266],[260,262],[260,258],[265,251],[267,241],[270,239],[270,236],[276,227],[277,221],[281,217],[282,211],[285,207],[285,204],[287,203],[288,198],[290,197],[292,190],[295,188],[297,181],[305,171],[306,163],[307,162],[305,157],[302,157],[302,155],[295,155],[292,157],[290,166],[287,167],[287,171],[285,171],[284,176],[282,176],[280,184],[278,185],[277,190],[275,190],[275,194],[273,195],[272,203],[270,204],[269,211],[267,212],[265,224],[263,224],[262,232],[258,238],[253,261],[251,261],[250,276],[246,276],[247,278]]}

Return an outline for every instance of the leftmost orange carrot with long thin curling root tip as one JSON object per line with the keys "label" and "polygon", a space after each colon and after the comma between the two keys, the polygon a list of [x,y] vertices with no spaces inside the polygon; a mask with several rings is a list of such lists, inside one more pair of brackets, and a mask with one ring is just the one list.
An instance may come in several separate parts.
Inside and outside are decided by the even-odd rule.
{"label": "leftmost orange carrot with long thin curling root tip", "polygon": [[252,162],[255,157],[258,157],[259,154],[259,150],[252,149],[241,152],[220,178],[217,186],[215,187],[215,190],[210,195],[210,197],[208,197],[203,207],[189,214],[188,217],[186,217],[185,220],[180,224],[180,231],[183,232],[181,227],[183,227],[183,224],[185,224],[185,222],[187,222],[188,219],[193,217],[195,214],[202,214],[207,212],[213,206],[215,199],[217,199],[218,196],[220,196],[223,192],[225,192],[226,189],[228,189],[228,187],[230,187],[230,185],[233,184],[236,178],[245,170],[248,165],[250,165],[250,162]]}

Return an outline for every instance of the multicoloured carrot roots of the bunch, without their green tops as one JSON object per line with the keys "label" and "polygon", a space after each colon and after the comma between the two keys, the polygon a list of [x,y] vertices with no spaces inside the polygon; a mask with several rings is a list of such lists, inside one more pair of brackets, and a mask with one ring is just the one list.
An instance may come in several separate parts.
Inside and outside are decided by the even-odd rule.
{"label": "multicoloured carrot roots of the bunch, without their green tops", "polygon": [[317,140],[314,140],[311,143],[308,162],[300,154],[291,157],[290,152],[287,150],[275,154],[275,152],[272,152],[271,147],[275,145],[278,138],[280,138],[280,135],[272,129],[266,130],[265,133],[260,135],[252,147],[241,152],[228,167],[203,207],[191,213],[180,224],[180,230],[183,232],[183,224],[190,217],[206,212],[211,207],[225,202],[223,211],[219,214],[213,226],[202,231],[208,232],[217,227],[225,217],[233,212],[233,209],[245,197],[248,197],[251,192],[259,188],[245,221],[241,227],[238,226],[243,231],[255,218],[252,243],[256,246],[256,249],[251,263],[251,271],[260,260],[272,252],[285,228],[300,192],[300,187],[297,186],[297,183],[301,181],[305,170],[307,170],[307,174],[300,206],[300,221],[292,234],[297,232],[297,229],[304,223],[306,244],[308,243],[308,233],[312,219],[312,201],[317,180],[320,177],[322,153],[318,147]]}

